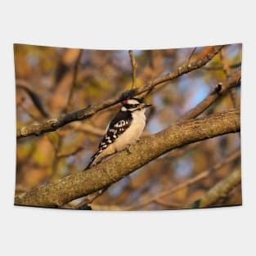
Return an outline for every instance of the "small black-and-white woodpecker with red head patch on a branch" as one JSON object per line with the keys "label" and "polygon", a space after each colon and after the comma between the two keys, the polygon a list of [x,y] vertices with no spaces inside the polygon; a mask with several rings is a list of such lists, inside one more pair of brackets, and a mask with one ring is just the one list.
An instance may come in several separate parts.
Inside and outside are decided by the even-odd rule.
{"label": "small black-and-white woodpecker with red head patch on a branch", "polygon": [[152,105],[146,104],[143,98],[126,99],[121,104],[119,112],[107,125],[97,152],[84,170],[99,164],[107,156],[128,149],[141,136],[146,125],[146,108]]}

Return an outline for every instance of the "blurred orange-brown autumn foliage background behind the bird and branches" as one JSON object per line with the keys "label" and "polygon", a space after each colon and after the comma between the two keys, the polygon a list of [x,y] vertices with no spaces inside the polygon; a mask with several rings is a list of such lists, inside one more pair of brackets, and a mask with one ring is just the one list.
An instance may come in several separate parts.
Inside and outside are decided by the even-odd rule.
{"label": "blurred orange-brown autumn foliage background behind the bird and branches", "polygon": [[[136,85],[167,74],[191,56],[194,48],[134,51]],[[241,65],[241,44],[224,48],[231,72]],[[196,47],[199,57],[207,47]],[[128,51],[80,50],[15,44],[16,125],[21,128],[97,104],[131,88],[132,66]],[[222,60],[215,56],[208,65],[182,75],[146,97],[154,108],[146,113],[143,136],[172,125],[226,78]],[[240,105],[240,88],[236,88]],[[203,115],[232,107],[231,97],[221,97]],[[56,182],[82,170],[97,150],[109,120],[119,110],[113,106],[91,119],[74,122],[40,137],[17,141],[16,194],[34,186]],[[238,133],[215,137],[168,153],[110,186],[93,202],[95,209],[136,205],[194,177],[240,148]],[[125,163],[124,163],[125,164]],[[152,200],[138,209],[179,209],[209,191],[216,182],[240,168],[240,158],[191,186]],[[217,204],[241,204],[240,186]]]}

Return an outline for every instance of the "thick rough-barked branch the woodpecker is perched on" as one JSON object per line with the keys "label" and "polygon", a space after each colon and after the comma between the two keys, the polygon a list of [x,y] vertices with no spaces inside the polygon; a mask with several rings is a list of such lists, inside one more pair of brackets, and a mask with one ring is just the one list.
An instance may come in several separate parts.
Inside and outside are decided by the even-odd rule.
{"label": "thick rough-barked branch the woodpecker is perched on", "polygon": [[21,197],[16,197],[15,204],[61,206],[110,186],[169,150],[239,131],[240,110],[233,109],[203,119],[188,120],[141,139],[131,146],[131,153],[124,150],[85,172],[69,175],[55,184],[38,187]]}

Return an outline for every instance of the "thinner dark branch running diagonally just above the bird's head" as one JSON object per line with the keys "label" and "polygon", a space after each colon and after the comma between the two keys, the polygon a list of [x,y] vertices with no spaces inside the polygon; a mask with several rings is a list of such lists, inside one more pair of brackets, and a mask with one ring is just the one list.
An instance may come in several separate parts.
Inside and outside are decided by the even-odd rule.
{"label": "thinner dark branch running diagonally just above the bird's head", "polygon": [[165,83],[168,80],[176,79],[177,77],[181,76],[182,74],[189,73],[193,70],[197,70],[200,67],[206,65],[218,52],[221,51],[223,46],[215,46],[212,47],[211,51],[206,52],[204,56],[201,56],[200,59],[196,59],[194,61],[186,61],[183,65],[180,65],[176,70],[161,76],[157,79],[151,80],[149,83],[142,85],[139,88],[133,88],[126,92],[121,93],[116,97],[112,97],[109,100],[103,101],[97,105],[87,106],[83,110],[78,110],[68,115],[48,119],[43,124],[32,124],[29,126],[25,126],[20,128],[16,132],[16,137],[28,137],[28,136],[38,136],[45,132],[52,132],[58,128],[61,128],[65,124],[69,124],[70,122],[88,119],[92,115],[96,114],[97,112],[106,109],[107,107],[113,106],[120,101],[124,101],[126,98],[134,97],[140,95],[143,92],[150,92],[153,88],[158,86],[161,83]]}

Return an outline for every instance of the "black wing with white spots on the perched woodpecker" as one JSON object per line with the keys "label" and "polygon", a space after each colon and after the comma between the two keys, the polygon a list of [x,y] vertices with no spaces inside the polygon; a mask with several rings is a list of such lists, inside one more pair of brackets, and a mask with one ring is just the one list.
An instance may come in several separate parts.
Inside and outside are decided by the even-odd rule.
{"label": "black wing with white spots on the perched woodpecker", "polygon": [[101,155],[103,150],[106,150],[108,146],[113,144],[115,140],[124,133],[128,127],[132,124],[132,114],[130,111],[119,111],[115,118],[112,119],[108,128],[106,130],[105,136],[102,138],[97,152],[92,155],[91,161],[88,164],[87,168],[92,167],[93,164],[96,164],[98,156]]}

